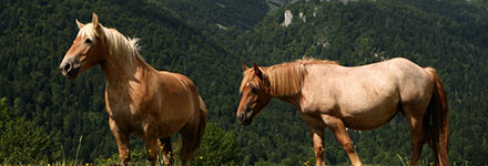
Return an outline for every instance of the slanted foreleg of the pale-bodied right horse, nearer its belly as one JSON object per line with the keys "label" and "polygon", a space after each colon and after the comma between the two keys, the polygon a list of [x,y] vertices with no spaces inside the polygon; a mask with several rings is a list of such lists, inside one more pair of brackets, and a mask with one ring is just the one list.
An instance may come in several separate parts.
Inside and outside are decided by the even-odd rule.
{"label": "slanted foreleg of the pale-bodied right horse, nearer its belly", "polygon": [[360,166],[363,163],[359,160],[359,156],[357,156],[356,151],[354,149],[353,141],[350,141],[349,134],[347,134],[346,127],[340,118],[331,116],[331,115],[322,115],[322,120],[327,125],[327,127],[334,133],[337,141],[343,146],[344,151],[346,151],[347,156],[350,159],[353,166]]}

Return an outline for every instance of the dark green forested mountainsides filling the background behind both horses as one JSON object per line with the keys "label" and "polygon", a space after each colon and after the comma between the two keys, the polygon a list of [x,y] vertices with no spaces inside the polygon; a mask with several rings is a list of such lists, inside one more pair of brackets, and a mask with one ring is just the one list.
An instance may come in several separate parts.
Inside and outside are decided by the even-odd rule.
{"label": "dark green forested mountainsides filling the background behind both horses", "polygon": [[[282,25],[289,10],[292,23]],[[362,65],[396,56],[433,66],[450,108],[453,165],[488,164],[488,3],[289,0],[2,0],[0,1],[0,165],[114,163],[116,144],[100,68],[78,80],[58,66],[77,35],[74,19],[141,38],[157,70],[192,79],[209,107],[194,165],[313,165],[299,113],[273,100],[247,127],[235,120],[241,64],[273,65],[302,56]],[[348,131],[363,163],[401,165],[411,155],[398,114],[375,131]],[[176,149],[180,141],[172,138]],[[141,138],[133,160],[144,162]],[[348,158],[326,131],[326,163]],[[434,162],[424,147],[421,164]]]}

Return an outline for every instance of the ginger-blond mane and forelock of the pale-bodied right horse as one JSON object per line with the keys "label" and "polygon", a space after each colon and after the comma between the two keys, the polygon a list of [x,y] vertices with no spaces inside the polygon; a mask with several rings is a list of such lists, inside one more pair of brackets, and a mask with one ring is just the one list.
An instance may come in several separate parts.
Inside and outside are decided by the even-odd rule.
{"label": "ginger-blond mane and forelock of the pale-bodied right horse", "polygon": [[[302,58],[294,62],[286,62],[282,64],[276,64],[267,68],[260,68],[263,74],[270,81],[270,93],[272,96],[289,96],[295,95],[302,91],[303,80],[306,75],[305,65],[306,64],[337,64],[334,61],[326,60],[315,60],[312,58]],[[248,69],[244,71],[244,77],[241,83],[240,92],[243,91],[244,86],[250,83],[253,86],[261,89],[257,79],[255,76],[254,69]]]}

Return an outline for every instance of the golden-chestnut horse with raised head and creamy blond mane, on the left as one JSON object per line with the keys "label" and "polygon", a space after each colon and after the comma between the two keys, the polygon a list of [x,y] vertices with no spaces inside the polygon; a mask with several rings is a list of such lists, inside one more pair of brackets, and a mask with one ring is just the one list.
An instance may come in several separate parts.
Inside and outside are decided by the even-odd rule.
{"label": "golden-chestnut horse with raised head and creamy blond mane, on the left", "polygon": [[171,165],[170,136],[180,133],[181,158],[187,165],[200,146],[206,108],[193,82],[177,73],[156,71],[140,56],[136,39],[104,28],[93,13],[92,23],[82,24],[73,45],[61,62],[70,80],[100,64],[106,77],[105,105],[110,129],[116,139],[122,165],[130,162],[129,135],[143,137],[148,159],[155,165],[159,141],[165,165]]}

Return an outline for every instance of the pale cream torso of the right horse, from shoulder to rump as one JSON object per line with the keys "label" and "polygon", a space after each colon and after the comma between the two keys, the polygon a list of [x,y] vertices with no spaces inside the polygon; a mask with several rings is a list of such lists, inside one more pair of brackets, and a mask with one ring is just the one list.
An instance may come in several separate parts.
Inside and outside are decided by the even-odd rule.
{"label": "pale cream torso of the right horse, from shoulder to rump", "polygon": [[421,87],[429,80],[420,66],[401,58],[362,66],[312,64],[306,69],[302,111],[340,117],[356,129],[387,123],[405,98],[426,95]]}

